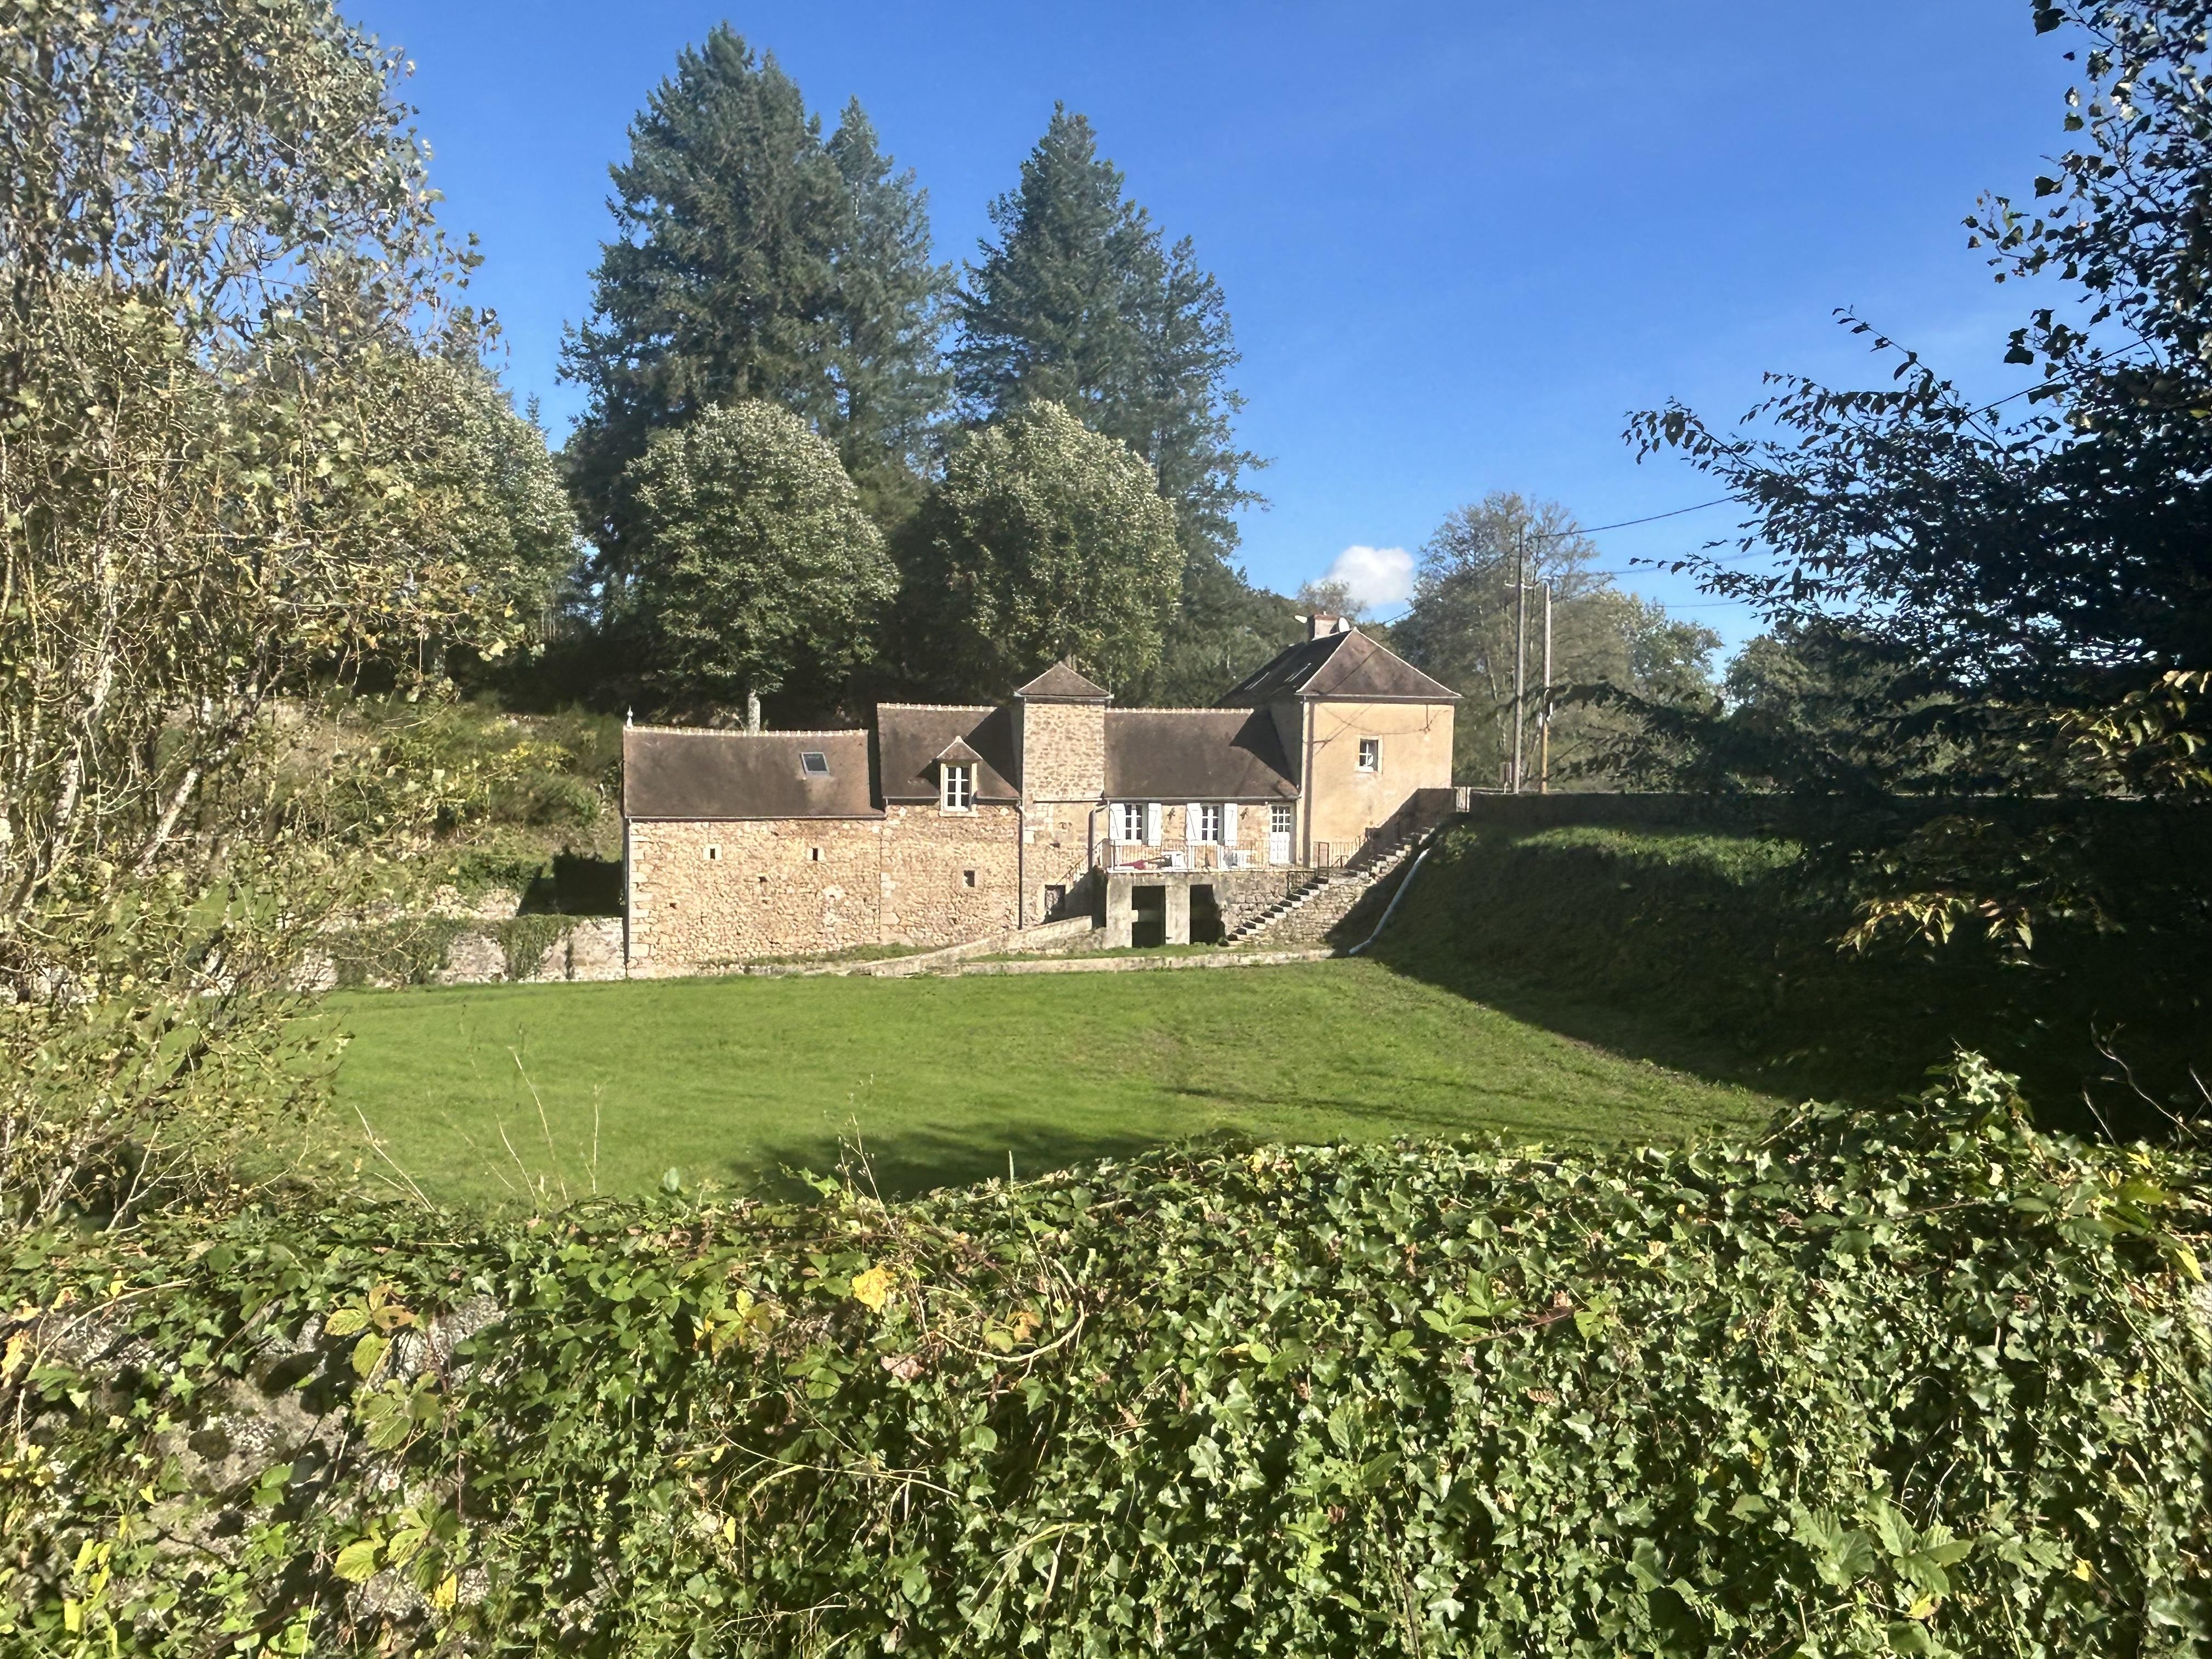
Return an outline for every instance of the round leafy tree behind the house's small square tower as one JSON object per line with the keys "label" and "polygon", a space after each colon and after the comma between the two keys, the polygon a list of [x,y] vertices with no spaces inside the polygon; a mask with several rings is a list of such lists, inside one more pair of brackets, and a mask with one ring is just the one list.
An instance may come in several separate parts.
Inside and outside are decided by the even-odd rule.
{"label": "round leafy tree behind the house's small square tower", "polygon": [[909,538],[907,668],[1004,695],[1060,657],[1108,686],[1159,661],[1181,588],[1152,469],[1057,403],[969,434]]}

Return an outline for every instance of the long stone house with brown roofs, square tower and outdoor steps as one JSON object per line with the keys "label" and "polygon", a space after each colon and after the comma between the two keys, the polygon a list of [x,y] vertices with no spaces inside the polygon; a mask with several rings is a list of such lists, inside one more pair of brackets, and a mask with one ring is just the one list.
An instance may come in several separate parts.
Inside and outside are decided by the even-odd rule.
{"label": "long stone house with brown roofs, square tower and outdoor steps", "polygon": [[622,734],[628,971],[938,947],[1093,916],[1219,936],[1451,803],[1458,695],[1338,617],[1214,708],[1115,708],[1055,664],[874,730]]}

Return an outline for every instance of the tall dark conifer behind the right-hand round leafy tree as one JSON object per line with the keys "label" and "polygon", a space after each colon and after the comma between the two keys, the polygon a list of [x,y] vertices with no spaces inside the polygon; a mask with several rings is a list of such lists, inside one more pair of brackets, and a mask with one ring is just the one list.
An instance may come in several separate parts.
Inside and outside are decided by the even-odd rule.
{"label": "tall dark conifer behind the right-hand round leafy tree", "polygon": [[991,226],[998,241],[984,241],[958,299],[962,411],[987,422],[1060,403],[1152,465],[1177,511],[1183,599],[1159,666],[1130,690],[1210,701],[1290,626],[1287,606],[1230,562],[1234,511],[1259,500],[1243,473],[1261,462],[1234,442],[1243,398],[1228,383],[1239,354],[1221,285],[1190,239],[1164,246],[1091,122],[1066,106],[1022,181],[991,204]]}

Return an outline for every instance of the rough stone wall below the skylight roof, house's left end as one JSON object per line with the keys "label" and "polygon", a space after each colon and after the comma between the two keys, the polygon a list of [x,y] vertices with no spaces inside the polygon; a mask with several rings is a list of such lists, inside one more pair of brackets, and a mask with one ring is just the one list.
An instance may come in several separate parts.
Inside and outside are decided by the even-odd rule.
{"label": "rough stone wall below the skylight roof, house's left end", "polygon": [[630,973],[880,945],[874,818],[630,825]]}

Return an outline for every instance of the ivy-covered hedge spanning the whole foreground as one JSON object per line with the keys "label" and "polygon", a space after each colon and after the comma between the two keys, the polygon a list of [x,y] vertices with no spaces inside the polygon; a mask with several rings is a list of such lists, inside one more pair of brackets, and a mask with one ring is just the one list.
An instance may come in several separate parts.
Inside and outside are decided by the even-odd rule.
{"label": "ivy-covered hedge spanning the whole foreground", "polygon": [[1962,1062],[1741,1148],[27,1239],[0,1641],[2201,1652],[2205,1177]]}

